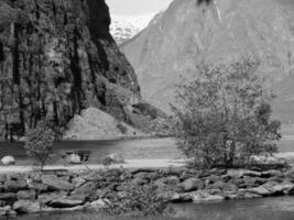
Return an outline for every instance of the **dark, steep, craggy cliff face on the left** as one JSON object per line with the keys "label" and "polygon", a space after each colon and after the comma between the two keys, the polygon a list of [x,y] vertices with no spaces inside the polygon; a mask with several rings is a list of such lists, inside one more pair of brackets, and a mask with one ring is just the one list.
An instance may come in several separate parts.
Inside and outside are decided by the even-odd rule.
{"label": "dark, steep, craggy cliff face on the left", "polygon": [[0,0],[2,136],[88,107],[129,120],[140,87],[109,24],[105,0]]}

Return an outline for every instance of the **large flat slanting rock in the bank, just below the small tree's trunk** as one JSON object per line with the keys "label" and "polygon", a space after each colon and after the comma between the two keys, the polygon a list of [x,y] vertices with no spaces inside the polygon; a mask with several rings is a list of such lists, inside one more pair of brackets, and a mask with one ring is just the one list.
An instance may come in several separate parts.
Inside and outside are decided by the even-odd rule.
{"label": "large flat slanting rock in the bank, just below the small tree's trunk", "polygon": [[73,190],[75,186],[61,177],[55,175],[44,175],[42,176],[42,182],[44,185],[47,185],[52,190]]}

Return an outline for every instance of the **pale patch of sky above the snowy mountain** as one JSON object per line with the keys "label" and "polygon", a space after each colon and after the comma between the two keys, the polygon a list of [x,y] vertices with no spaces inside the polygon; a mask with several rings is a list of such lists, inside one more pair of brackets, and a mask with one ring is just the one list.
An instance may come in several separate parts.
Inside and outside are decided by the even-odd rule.
{"label": "pale patch of sky above the snowy mountain", "polygon": [[172,0],[106,0],[111,14],[140,15],[166,9]]}

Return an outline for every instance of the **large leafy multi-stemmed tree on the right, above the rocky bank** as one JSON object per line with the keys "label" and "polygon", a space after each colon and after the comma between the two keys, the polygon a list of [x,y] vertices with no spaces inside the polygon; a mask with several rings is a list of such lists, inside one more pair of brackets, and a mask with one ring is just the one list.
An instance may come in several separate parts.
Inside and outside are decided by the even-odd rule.
{"label": "large leafy multi-stemmed tree on the right, above the rocky bank", "polygon": [[177,144],[206,167],[231,167],[236,158],[273,153],[281,123],[271,120],[273,95],[255,75],[259,62],[203,65],[192,82],[179,86],[176,106]]}

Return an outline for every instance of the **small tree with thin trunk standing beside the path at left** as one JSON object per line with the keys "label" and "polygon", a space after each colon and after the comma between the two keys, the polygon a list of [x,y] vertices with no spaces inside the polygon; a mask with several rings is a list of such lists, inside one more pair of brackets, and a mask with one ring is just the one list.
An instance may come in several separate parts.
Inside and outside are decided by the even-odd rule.
{"label": "small tree with thin trunk standing beside the path at left", "polygon": [[24,148],[29,156],[40,162],[41,172],[53,150],[55,133],[46,122],[40,123],[35,129],[26,132]]}

